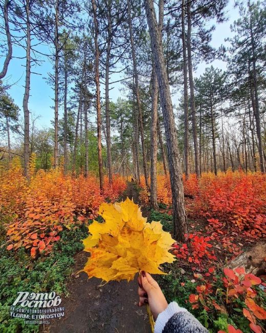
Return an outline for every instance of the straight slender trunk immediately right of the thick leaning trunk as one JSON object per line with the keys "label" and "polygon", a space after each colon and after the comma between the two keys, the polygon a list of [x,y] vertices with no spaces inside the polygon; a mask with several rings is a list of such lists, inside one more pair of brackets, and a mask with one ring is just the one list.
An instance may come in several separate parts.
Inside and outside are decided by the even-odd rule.
{"label": "straight slender trunk immediately right of the thick leaning trunk", "polygon": [[182,0],[182,46],[183,46],[183,77],[184,77],[184,159],[185,174],[189,176],[189,142],[188,142],[188,64],[187,64],[187,42],[185,30],[185,0]]}

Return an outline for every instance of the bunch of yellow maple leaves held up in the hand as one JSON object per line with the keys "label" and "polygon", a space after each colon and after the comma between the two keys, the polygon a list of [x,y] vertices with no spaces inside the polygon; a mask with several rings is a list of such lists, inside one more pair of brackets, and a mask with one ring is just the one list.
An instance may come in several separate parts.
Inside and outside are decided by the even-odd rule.
{"label": "bunch of yellow maple leaves held up in the hand", "polygon": [[160,222],[147,223],[140,207],[129,198],[120,203],[102,203],[99,215],[104,222],[94,221],[88,227],[91,235],[83,240],[84,251],[91,253],[82,269],[88,277],[108,282],[130,281],[140,270],[165,274],[160,265],[174,261],[168,252],[174,240]]}

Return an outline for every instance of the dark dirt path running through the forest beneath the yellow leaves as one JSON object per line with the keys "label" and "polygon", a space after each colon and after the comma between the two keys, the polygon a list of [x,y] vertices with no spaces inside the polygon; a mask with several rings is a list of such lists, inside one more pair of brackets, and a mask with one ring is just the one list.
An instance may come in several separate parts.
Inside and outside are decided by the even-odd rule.
{"label": "dark dirt path running through the forest beneath the yellow leaves", "polygon": [[[135,183],[128,182],[130,199],[138,202]],[[88,254],[78,253],[75,271],[81,269]],[[111,281],[100,286],[101,280],[88,280],[85,273],[73,277],[68,285],[70,296],[62,300],[65,317],[54,320],[46,331],[54,333],[148,333],[150,326],[146,308],[137,306],[137,281]],[[48,330],[47,330],[48,329]]]}

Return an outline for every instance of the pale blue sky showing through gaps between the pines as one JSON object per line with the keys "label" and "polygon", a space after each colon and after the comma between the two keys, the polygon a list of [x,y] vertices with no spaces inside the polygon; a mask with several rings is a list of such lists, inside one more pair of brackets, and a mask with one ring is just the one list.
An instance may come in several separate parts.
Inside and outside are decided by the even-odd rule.
{"label": "pale blue sky showing through gaps between the pines", "polygon": [[[216,30],[213,32],[212,37],[212,46],[219,47],[221,44],[225,44],[224,39],[226,37],[232,36],[230,31],[230,24],[234,22],[237,18],[238,12],[233,8],[234,0],[229,1],[229,6],[227,7],[227,15],[229,17],[228,22],[217,25]],[[42,47],[42,52],[48,52],[48,47]],[[14,47],[13,50],[14,58],[11,60],[7,76],[4,79],[12,87],[9,89],[9,94],[14,99],[15,103],[20,108],[20,114],[23,115],[23,96],[24,96],[24,85],[25,85],[25,59],[18,59],[15,57],[24,57],[25,50],[22,48]],[[46,57],[41,57],[40,60],[44,60],[40,66],[33,67],[32,71],[37,72],[40,75],[32,74],[31,75],[31,90],[29,98],[29,109],[35,116],[40,116],[37,120],[38,127],[50,127],[51,120],[54,117],[54,111],[51,108],[53,106],[53,97],[54,91],[48,82],[48,73],[53,71],[52,64],[49,59]],[[0,59],[0,65],[2,66],[4,58]],[[210,66],[210,65],[207,65]],[[213,61],[213,66],[225,70],[226,64],[221,60]],[[198,68],[195,72],[195,76],[200,76],[206,68],[206,64],[198,65]],[[116,81],[123,77],[123,74],[113,74],[110,78],[110,81]],[[116,101],[118,97],[123,97],[123,92],[120,91],[121,85],[115,84],[114,89],[110,90],[110,98],[113,101]],[[104,93],[104,90],[101,89],[101,93]],[[173,102],[178,101],[180,94],[177,93],[173,96]],[[60,112],[59,112],[60,113]],[[60,114],[59,114],[60,116]]]}

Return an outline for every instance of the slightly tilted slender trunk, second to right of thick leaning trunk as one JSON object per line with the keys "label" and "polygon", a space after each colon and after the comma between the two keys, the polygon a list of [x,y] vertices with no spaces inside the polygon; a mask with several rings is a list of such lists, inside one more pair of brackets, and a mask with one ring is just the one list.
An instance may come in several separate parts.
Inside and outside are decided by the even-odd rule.
{"label": "slightly tilted slender trunk, second to right of thick leaning trunk", "polygon": [[197,123],[196,123],[196,108],[195,108],[195,94],[194,94],[194,80],[192,70],[192,55],[191,55],[191,9],[190,0],[187,3],[188,11],[188,32],[187,32],[187,50],[188,50],[188,78],[189,78],[189,89],[190,89],[190,107],[192,116],[192,133],[194,143],[194,155],[195,155],[195,172],[196,176],[200,177],[200,154],[198,152],[197,142]]}

